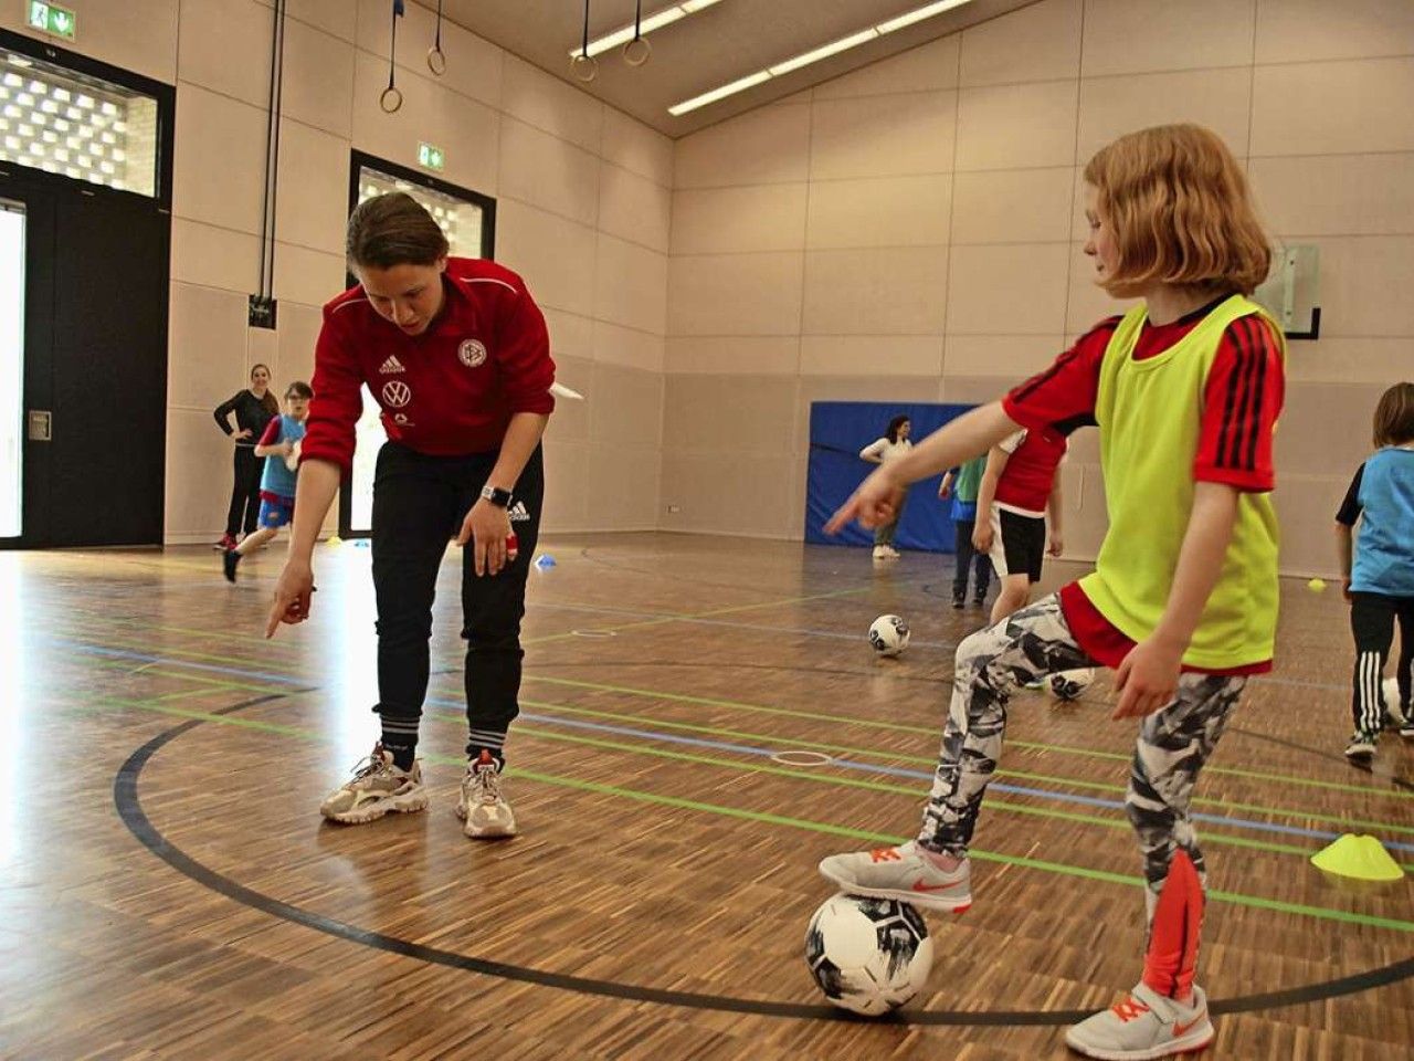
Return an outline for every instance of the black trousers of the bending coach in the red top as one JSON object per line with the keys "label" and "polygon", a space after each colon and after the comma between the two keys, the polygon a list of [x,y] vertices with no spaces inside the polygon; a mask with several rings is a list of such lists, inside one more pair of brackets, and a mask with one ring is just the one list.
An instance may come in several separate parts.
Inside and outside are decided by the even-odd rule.
{"label": "black trousers of the bending coach in the red top", "polygon": [[[496,453],[428,457],[385,443],[373,475],[373,593],[378,598],[378,696],[387,719],[414,721],[427,696],[437,572],[447,540],[477,502]],[[515,487],[510,528],[518,555],[501,574],[477,577],[462,550],[461,635],[467,641],[467,721],[505,733],[520,712],[520,618],[540,536],[544,468],[537,448]],[[475,748],[468,744],[468,754]]]}

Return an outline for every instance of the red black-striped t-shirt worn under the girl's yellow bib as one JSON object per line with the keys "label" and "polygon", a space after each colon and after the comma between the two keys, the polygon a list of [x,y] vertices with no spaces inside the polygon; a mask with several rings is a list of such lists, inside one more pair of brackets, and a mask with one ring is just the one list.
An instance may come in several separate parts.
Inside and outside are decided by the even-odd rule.
{"label": "red black-striped t-shirt worn under the girl's yellow bib", "polygon": [[[1144,361],[1171,348],[1225,298],[1171,324],[1145,324],[1134,348],[1134,359]],[[1118,324],[1118,317],[1103,321],[1082,335],[1048,369],[1008,393],[1003,399],[1007,416],[1027,429],[1041,429],[1056,422],[1093,424],[1094,403],[1100,392],[1100,362]],[[1261,317],[1237,318],[1223,332],[1203,386],[1193,480],[1222,482],[1254,494],[1273,489],[1275,470],[1271,440],[1284,395],[1285,366],[1281,344],[1271,325]],[[1060,605],[1076,642],[1104,666],[1118,666],[1134,648],[1134,642],[1090,603],[1079,583],[1060,590]],[[1184,669],[1251,675],[1270,671],[1271,661],[1225,671]]]}

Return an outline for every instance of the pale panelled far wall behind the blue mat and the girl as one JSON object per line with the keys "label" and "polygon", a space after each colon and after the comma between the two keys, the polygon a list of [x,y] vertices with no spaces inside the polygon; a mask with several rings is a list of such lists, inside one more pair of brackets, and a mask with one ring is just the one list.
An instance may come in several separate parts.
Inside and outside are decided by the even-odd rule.
{"label": "pale panelled far wall behind the blue mat and the girl", "polygon": [[[1408,0],[1041,0],[676,141],[660,526],[800,538],[812,400],[986,400],[1120,310],[1080,253],[1079,167],[1195,120],[1270,229],[1321,248],[1277,506],[1284,570],[1331,572],[1374,402],[1414,376],[1410,100]],[[1075,557],[1096,461],[1077,436]]]}

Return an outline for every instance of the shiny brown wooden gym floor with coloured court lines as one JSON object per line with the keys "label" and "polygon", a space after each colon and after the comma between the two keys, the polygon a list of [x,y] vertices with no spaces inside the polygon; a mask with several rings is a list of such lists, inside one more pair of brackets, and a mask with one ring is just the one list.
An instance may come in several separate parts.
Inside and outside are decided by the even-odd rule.
{"label": "shiny brown wooden gym floor with coloured court lines", "polygon": [[[802,961],[816,862],[912,835],[937,747],[950,559],[564,536],[534,573],[508,781],[523,836],[451,806],[465,723],[448,557],[427,813],[322,825],[376,736],[366,549],[321,549],[315,618],[260,637],[276,549],[0,553],[0,1057],[1062,1058],[1138,976],[1133,724],[1107,682],[1014,700],[976,904],[932,920],[929,993],[836,1019]],[[1048,586],[1079,569],[1048,564]],[[1408,1058],[1414,888],[1308,857],[1372,833],[1414,870],[1414,747],[1340,754],[1335,590],[1284,584],[1280,669],[1199,782],[1200,980],[1225,1058]],[[913,625],[878,661],[868,622]],[[827,765],[786,765],[817,751]],[[790,758],[790,757],[786,757]]]}

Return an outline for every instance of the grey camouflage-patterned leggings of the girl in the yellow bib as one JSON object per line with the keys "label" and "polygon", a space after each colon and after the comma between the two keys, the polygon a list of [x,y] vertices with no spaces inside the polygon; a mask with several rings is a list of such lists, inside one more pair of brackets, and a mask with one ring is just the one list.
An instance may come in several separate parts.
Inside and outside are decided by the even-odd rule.
{"label": "grey camouflage-patterned leggings of the girl in the yellow bib", "polygon": [[[957,647],[952,707],[918,833],[923,847],[967,853],[983,794],[1001,757],[1012,688],[1079,666],[1094,666],[1094,661],[1070,637],[1055,594]],[[1174,703],[1140,724],[1124,806],[1138,833],[1151,904],[1179,847],[1203,874],[1188,805],[1198,771],[1213,754],[1246,683],[1246,678],[1185,673]]]}

